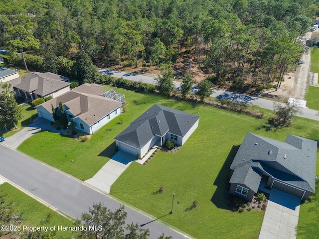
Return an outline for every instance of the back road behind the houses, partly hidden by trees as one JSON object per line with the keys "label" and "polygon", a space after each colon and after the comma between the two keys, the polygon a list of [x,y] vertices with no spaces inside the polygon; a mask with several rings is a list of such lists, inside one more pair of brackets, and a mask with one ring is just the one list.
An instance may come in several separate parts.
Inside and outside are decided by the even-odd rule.
{"label": "back road behind the houses, partly hidden by trees", "polygon": [[[138,75],[135,73],[112,71],[112,70],[101,69],[101,68],[99,68],[99,72],[103,75],[108,75],[108,76],[113,76],[113,77],[118,77],[118,78],[123,77],[124,79],[131,80],[131,81],[141,81],[141,82],[148,83],[148,84],[156,84],[156,81],[153,77]],[[174,83],[176,89],[180,88],[180,82],[173,81],[173,83]],[[191,91],[196,92],[196,90],[197,90],[197,88],[196,88],[196,86],[194,86]],[[238,93],[224,91],[224,90],[218,90],[218,89],[213,89],[212,94],[210,96],[216,97],[218,99],[231,100],[231,101],[238,102],[238,103],[244,103],[247,105],[258,106],[260,108],[264,108],[264,109],[268,109],[268,110],[274,110],[274,102],[273,101],[262,99],[259,97],[248,96],[248,95],[244,95],[244,94],[238,94]],[[308,108],[301,108],[301,111],[302,111],[302,113],[299,114],[298,116],[319,121],[318,111],[311,110]]]}

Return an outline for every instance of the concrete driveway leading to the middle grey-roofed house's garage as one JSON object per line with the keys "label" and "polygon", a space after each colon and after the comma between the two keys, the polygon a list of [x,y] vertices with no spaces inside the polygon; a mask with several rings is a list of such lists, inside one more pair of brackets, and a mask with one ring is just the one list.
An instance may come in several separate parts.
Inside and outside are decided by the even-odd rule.
{"label": "concrete driveway leading to the middle grey-roofed house's garage", "polygon": [[123,151],[117,152],[94,176],[86,180],[88,184],[103,192],[110,193],[111,186],[131,165],[136,157]]}

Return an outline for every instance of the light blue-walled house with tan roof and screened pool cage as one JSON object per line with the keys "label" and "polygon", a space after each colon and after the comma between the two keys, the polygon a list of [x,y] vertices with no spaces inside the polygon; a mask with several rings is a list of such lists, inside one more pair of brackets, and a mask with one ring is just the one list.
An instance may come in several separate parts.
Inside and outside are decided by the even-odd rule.
{"label": "light blue-walled house with tan roof and screened pool cage", "polygon": [[104,87],[85,83],[35,108],[40,118],[54,122],[52,106],[59,114],[62,102],[68,121],[74,122],[76,129],[92,134],[121,114],[122,103],[101,96],[103,93]]}

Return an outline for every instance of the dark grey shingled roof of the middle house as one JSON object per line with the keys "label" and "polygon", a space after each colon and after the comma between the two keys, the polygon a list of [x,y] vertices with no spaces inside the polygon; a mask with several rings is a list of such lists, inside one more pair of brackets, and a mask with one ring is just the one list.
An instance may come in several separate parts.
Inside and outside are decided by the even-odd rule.
{"label": "dark grey shingled roof of the middle house", "polygon": [[183,137],[198,119],[198,116],[186,112],[154,105],[135,119],[115,139],[136,148],[142,148],[154,135],[163,136],[167,131]]}

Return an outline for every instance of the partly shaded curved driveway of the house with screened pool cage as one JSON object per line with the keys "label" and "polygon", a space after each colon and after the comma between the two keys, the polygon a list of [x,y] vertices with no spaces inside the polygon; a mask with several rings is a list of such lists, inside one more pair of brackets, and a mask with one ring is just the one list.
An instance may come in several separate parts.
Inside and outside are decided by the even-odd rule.
{"label": "partly shaded curved driveway of the house with screened pool cage", "polygon": [[50,125],[50,122],[48,120],[37,119],[33,123],[29,124],[25,128],[13,134],[12,136],[5,138],[5,141],[2,143],[13,149],[16,149],[25,139],[28,139],[33,134],[36,134],[43,130],[49,130],[51,132],[61,133],[61,132],[67,131],[68,129],[56,130]]}

